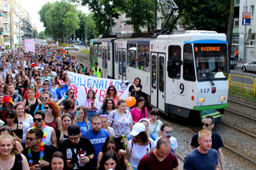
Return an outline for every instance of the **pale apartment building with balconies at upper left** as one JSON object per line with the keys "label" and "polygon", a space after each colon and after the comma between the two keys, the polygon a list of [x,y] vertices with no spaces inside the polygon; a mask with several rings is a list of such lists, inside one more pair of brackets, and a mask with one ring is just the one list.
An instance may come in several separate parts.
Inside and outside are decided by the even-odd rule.
{"label": "pale apartment building with balconies at upper left", "polygon": [[14,47],[21,44],[25,38],[32,38],[32,21],[21,6],[20,0],[0,0],[0,4],[0,45],[11,44]]}

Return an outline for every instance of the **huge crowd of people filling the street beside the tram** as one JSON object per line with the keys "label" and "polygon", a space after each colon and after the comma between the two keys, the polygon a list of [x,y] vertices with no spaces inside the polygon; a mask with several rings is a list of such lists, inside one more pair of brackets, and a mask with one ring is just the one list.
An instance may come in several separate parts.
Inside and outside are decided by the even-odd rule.
{"label": "huge crowd of people filling the street beside the tram", "polygon": [[[139,77],[129,88],[136,104],[128,111],[112,83],[102,107],[92,88],[77,105],[67,71],[101,77],[98,63],[84,68],[53,46],[37,45],[35,53],[19,47],[2,55],[0,169],[178,170],[173,128],[159,120],[158,109],[148,113]],[[202,127],[206,130],[193,136],[184,169],[217,169],[218,159],[224,169],[222,140],[211,133],[214,119],[206,117]],[[211,134],[215,150],[209,148]],[[200,153],[208,157],[198,159]],[[208,164],[202,165],[204,159]]]}

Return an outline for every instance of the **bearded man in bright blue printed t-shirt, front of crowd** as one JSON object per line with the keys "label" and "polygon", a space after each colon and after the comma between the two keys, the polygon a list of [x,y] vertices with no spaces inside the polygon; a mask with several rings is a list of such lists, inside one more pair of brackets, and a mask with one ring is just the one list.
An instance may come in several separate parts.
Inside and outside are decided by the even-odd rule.
{"label": "bearded man in bright blue printed t-shirt, front of crowd", "polygon": [[102,151],[102,146],[105,143],[106,137],[110,136],[110,133],[102,128],[102,120],[98,115],[91,117],[91,128],[82,133],[82,136],[90,139],[91,144],[94,147],[94,159],[91,162],[91,167],[95,169],[97,167],[98,153]]}

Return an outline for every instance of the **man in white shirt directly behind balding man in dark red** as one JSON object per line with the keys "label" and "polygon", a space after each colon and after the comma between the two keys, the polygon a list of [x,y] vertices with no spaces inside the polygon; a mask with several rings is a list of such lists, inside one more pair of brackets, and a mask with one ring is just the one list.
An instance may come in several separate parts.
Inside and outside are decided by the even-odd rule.
{"label": "man in white shirt directly behind balding man in dark red", "polygon": [[155,140],[154,143],[157,144],[159,139],[163,137],[167,137],[170,140],[170,144],[171,144],[170,152],[172,152],[175,155],[176,148],[178,148],[178,143],[176,138],[172,136],[172,132],[173,132],[173,128],[171,127],[170,123],[164,122],[160,128],[161,136],[158,137],[158,139]]}

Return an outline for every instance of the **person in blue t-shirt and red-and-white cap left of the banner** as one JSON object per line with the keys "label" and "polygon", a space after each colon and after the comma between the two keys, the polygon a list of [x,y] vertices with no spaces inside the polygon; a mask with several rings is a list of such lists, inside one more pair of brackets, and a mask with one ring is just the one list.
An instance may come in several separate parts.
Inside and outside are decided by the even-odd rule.
{"label": "person in blue t-shirt and red-and-white cap left of the banner", "polygon": [[66,82],[62,81],[62,79],[57,81],[58,88],[55,89],[55,91],[56,91],[58,100],[61,100],[62,97],[64,97],[66,95],[66,92],[70,86],[70,77],[67,74],[67,72],[65,72],[65,77],[67,80]]}

